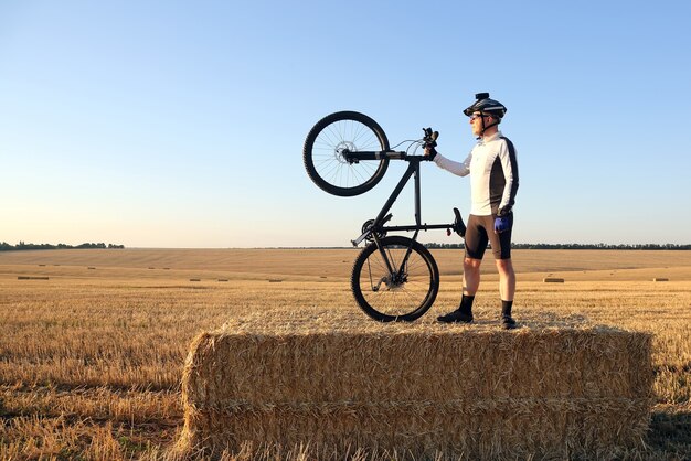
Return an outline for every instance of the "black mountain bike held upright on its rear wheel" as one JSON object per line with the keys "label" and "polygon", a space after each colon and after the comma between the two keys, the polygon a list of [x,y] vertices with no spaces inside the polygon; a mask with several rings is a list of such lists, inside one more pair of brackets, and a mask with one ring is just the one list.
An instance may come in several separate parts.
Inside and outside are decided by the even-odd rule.
{"label": "black mountain bike held upright on its rear wheel", "polygon": [[[417,242],[421,230],[446,229],[464,237],[466,226],[457,208],[451,224],[423,224],[421,213],[421,162],[427,156],[418,148],[436,147],[438,132],[423,128],[424,137],[408,143],[405,151],[392,150],[386,133],[364,114],[340,111],[319,120],[307,135],[302,160],[310,179],[321,190],[340,196],[370,191],[386,173],[390,160],[408,162],[406,171],[375,218],[362,225],[353,246],[369,244],[360,251],[351,272],[351,289],[358,305],[381,322],[414,321],[429,310],[439,290],[437,264]],[[413,153],[410,153],[413,150]],[[415,224],[387,226],[389,213],[411,178],[415,183]],[[414,232],[413,237],[387,236],[390,232]]]}

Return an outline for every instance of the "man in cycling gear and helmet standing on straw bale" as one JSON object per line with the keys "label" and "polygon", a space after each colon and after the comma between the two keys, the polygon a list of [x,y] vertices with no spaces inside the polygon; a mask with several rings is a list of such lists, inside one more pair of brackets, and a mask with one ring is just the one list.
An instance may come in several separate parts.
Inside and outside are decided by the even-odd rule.
{"label": "man in cycling gear and helmet standing on straw bale", "polygon": [[513,203],[518,191],[518,164],[513,143],[499,131],[507,108],[489,98],[489,93],[475,95],[476,101],[464,110],[478,143],[468,158],[455,162],[427,148],[430,160],[459,176],[470,174],[471,207],[466,229],[464,257],[463,299],[457,310],[440,315],[445,323],[472,322],[472,301],[480,286],[480,264],[489,242],[499,271],[501,323],[504,329],[515,328],[511,317],[515,293],[515,272],[511,262],[511,230]]}

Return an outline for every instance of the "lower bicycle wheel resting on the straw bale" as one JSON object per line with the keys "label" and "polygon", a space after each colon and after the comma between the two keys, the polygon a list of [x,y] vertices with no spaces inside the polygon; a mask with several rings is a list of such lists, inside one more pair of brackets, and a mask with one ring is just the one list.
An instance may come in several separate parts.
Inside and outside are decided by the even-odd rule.
{"label": "lower bicycle wheel resting on the straw bale", "polygon": [[[411,248],[403,281],[392,282],[392,276],[376,243],[364,247],[351,274],[351,288],[358,305],[380,322],[414,321],[429,310],[439,291],[439,269],[427,248],[403,236],[380,239],[380,246],[400,268],[403,255]],[[376,285],[375,285],[376,283]]]}

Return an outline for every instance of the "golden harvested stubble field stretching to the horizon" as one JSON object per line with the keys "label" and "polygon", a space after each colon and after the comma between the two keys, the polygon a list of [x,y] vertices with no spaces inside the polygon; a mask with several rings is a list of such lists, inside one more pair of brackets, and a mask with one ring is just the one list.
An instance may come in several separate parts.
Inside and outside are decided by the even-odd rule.
{"label": "golden harvested stubble field stretching to the horizon", "polygon": [[[183,422],[180,380],[192,339],[248,313],[319,318],[322,325],[352,319],[357,328],[364,315],[349,287],[357,254],[1,253],[0,459],[171,458],[168,449]],[[461,253],[433,255],[440,292],[417,329],[447,328],[436,315],[459,299]],[[514,313],[524,325],[587,321],[655,334],[657,404],[645,457],[691,459],[691,251],[517,250],[514,266]],[[475,326],[499,329],[491,258],[482,277]],[[545,277],[565,282],[544,283]],[[359,453],[366,459],[366,450]],[[284,454],[307,458],[298,448]],[[269,454],[248,449],[226,458]]]}

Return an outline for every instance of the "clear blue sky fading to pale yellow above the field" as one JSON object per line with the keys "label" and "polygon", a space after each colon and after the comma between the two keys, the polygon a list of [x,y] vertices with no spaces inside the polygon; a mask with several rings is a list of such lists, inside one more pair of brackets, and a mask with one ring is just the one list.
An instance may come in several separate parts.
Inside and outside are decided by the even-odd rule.
{"label": "clear blue sky fading to pale yellow above the field", "polygon": [[[329,195],[302,167],[312,125],[432,126],[463,160],[461,110],[490,92],[514,242],[688,244],[690,23],[665,0],[2,1],[0,242],[348,246],[404,165]],[[468,179],[423,168],[423,221],[467,214]]]}

